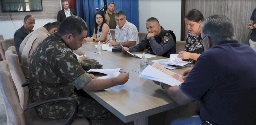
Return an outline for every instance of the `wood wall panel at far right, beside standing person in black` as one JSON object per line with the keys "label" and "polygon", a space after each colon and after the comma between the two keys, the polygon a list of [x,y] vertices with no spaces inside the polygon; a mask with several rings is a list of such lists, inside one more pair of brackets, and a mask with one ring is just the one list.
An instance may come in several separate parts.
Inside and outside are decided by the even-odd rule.
{"label": "wood wall panel at far right, beside standing person in black", "polygon": [[251,22],[250,18],[254,8],[255,0],[229,0],[227,17],[231,20],[236,39],[242,43],[249,44],[251,30],[247,28],[245,22]]}

